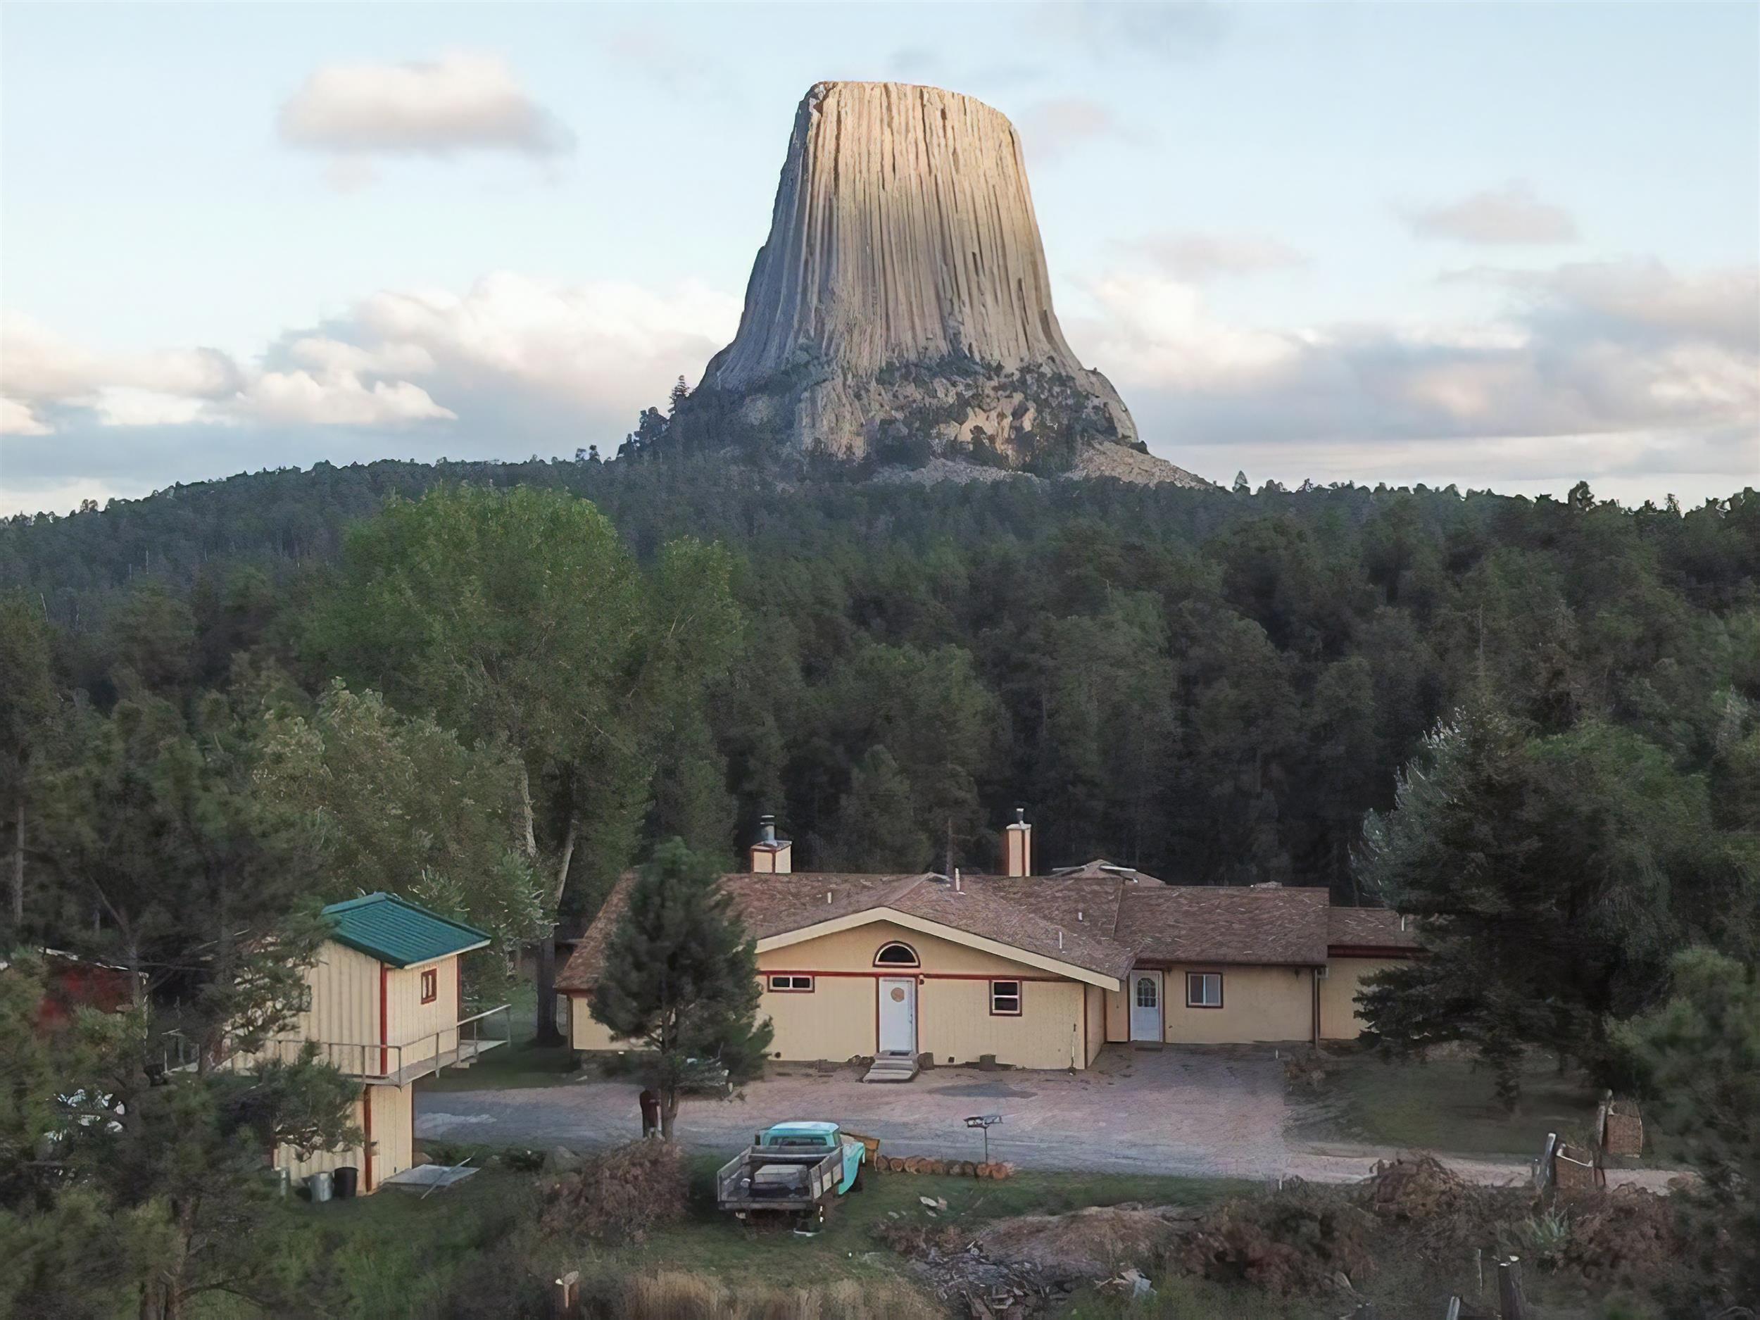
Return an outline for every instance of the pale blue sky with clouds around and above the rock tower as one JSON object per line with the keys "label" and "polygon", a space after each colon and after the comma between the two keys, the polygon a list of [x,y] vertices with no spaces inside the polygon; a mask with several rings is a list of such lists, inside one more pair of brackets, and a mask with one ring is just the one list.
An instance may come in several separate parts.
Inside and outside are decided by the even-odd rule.
{"label": "pale blue sky with clouds around and above the rock tower", "polygon": [[1021,132],[1067,338],[1228,482],[1760,484],[1760,5],[0,5],[0,514],[604,452],[794,107]]}

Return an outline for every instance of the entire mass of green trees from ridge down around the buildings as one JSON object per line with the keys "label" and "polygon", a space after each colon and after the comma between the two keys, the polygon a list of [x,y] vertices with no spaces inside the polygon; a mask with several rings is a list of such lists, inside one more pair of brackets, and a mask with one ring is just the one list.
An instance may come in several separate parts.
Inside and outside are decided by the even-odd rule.
{"label": "entire mass of green trees from ridge down around the buildings", "polygon": [[[477,1007],[535,947],[546,1042],[546,935],[632,862],[708,885],[771,811],[797,869],[994,868],[1016,806],[1040,866],[1417,919],[1366,1044],[1644,1095],[1704,1176],[1668,1313],[1760,1287],[1760,496],[861,475],[378,463],[0,526],[0,1311],[306,1306],[262,1151],[359,1140],[352,1082],[222,1065],[319,903],[477,924]],[[134,1012],[44,1033],[40,949]]]}

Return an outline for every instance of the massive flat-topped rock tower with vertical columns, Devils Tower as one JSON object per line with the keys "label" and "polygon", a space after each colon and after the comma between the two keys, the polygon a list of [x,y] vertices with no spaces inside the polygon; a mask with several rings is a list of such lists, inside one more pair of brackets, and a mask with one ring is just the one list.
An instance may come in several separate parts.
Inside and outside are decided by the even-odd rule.
{"label": "massive flat-topped rock tower with vertical columns, Devils Tower", "polygon": [[847,458],[1067,470],[1142,449],[1058,326],[1014,125],[898,83],[801,100],[739,333],[685,412]]}

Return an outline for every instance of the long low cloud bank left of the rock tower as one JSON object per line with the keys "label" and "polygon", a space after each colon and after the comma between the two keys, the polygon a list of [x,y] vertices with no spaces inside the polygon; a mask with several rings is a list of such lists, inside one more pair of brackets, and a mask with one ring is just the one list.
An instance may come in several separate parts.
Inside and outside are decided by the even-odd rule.
{"label": "long low cloud bank left of the rock tower", "polygon": [[463,294],[382,290],[322,331],[280,336],[260,368],[245,370],[211,348],[106,356],[7,317],[0,426],[48,435],[63,424],[465,419],[554,436],[627,426],[674,377],[695,377],[737,322],[737,299],[697,283],[655,292],[496,273]]}

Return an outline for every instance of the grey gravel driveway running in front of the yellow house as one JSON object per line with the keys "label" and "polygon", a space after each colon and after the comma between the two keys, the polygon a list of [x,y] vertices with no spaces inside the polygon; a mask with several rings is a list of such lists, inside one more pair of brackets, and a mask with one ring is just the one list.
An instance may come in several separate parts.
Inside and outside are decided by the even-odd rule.
{"label": "grey gravel driveway running in front of the yellow house", "polygon": [[[752,1132],[790,1118],[829,1118],[880,1137],[891,1155],[977,1160],[968,1114],[1001,1114],[991,1158],[1023,1169],[1211,1177],[1364,1177],[1392,1149],[1285,1140],[1283,1065],[1271,1049],[1132,1051],[1109,1045],[1088,1072],[933,1068],[915,1081],[866,1084],[862,1070],[774,1065],[737,1100],[686,1100],[678,1137],[730,1153]],[[491,1146],[584,1149],[641,1135],[639,1084],[583,1077],[561,1086],[415,1093],[415,1135]],[[1515,1162],[1447,1160],[1475,1183],[1526,1179]],[[1667,1170],[1637,1170],[1642,1184]]]}

